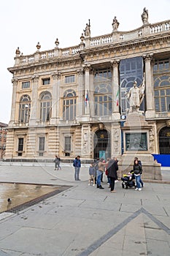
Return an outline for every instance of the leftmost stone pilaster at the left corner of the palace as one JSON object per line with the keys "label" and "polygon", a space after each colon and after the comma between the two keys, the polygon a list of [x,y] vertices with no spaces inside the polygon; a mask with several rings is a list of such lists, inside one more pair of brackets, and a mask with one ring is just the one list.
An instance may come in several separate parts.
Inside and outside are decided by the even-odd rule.
{"label": "leftmost stone pilaster at the left corner of the palace", "polygon": [[9,127],[12,127],[15,123],[15,110],[16,106],[16,97],[17,97],[17,88],[18,88],[18,79],[12,79],[13,90],[12,90],[12,106],[11,106],[11,118],[9,121]]}

